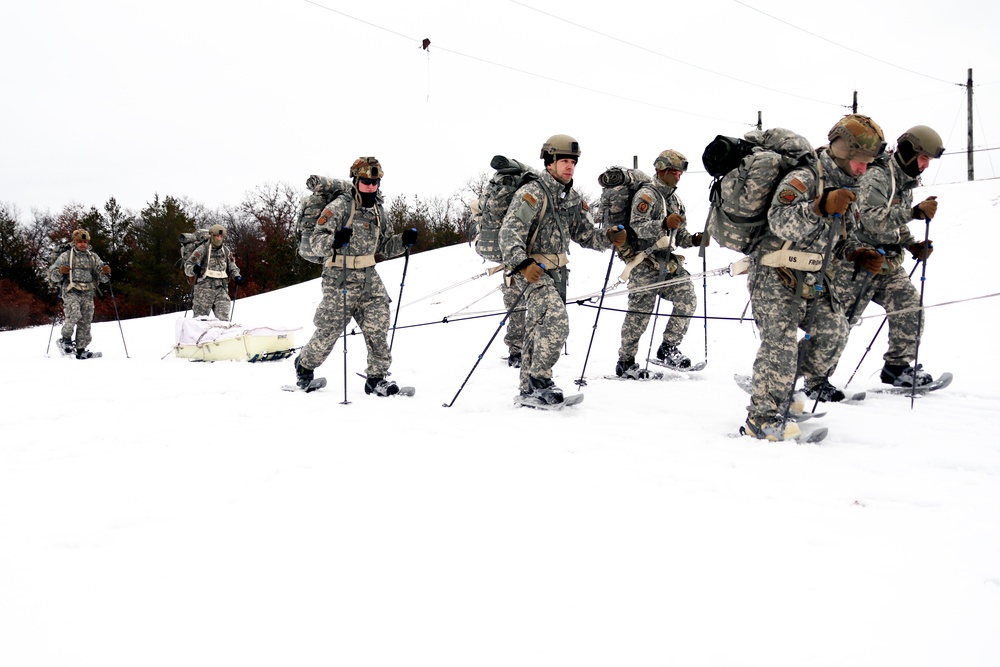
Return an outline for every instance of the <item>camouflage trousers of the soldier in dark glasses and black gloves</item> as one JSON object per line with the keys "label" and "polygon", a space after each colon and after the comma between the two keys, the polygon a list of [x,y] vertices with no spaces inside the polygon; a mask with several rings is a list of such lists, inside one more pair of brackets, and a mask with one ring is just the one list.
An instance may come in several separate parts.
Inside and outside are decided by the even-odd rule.
{"label": "camouflage trousers of the soldier in dark glasses and black gloves", "polygon": [[[330,356],[337,338],[344,333],[344,269],[323,269],[323,300],[316,308],[316,331],[302,348],[299,363],[317,368]],[[389,331],[389,293],[374,268],[347,270],[347,317],[358,323],[368,348],[368,377],[385,377],[392,365],[386,342]],[[346,344],[346,342],[345,342]]]}

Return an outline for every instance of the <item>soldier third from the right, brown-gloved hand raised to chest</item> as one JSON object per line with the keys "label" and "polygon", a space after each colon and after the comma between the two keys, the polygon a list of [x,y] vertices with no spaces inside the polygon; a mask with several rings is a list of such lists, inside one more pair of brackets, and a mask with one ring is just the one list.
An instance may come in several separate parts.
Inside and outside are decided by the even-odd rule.
{"label": "soldier third from the right, brown-gloved hand raised to chest", "polygon": [[[687,158],[675,150],[665,150],[653,166],[656,176],[651,183],[639,188],[632,199],[629,218],[632,233],[626,234],[625,242],[616,245],[618,256],[626,264],[638,262],[629,273],[628,285],[632,290],[690,275],[684,269],[683,255],[675,255],[672,250],[700,246],[702,241],[701,233],[688,232],[684,203],[677,196],[677,183],[688,168]],[[690,281],[682,281],[664,285],[656,291],[629,293],[629,312],[622,323],[622,343],[615,366],[619,377],[639,379],[649,375],[649,371],[636,363],[635,355],[657,296],[673,302],[674,306],[656,357],[674,368],[691,366],[691,360],[677,346],[687,333],[691,315],[698,307],[698,298]]]}

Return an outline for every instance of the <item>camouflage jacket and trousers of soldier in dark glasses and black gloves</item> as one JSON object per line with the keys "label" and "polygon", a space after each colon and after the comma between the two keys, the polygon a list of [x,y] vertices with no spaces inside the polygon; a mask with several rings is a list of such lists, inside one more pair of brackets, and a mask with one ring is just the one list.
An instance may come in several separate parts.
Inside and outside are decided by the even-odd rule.
{"label": "camouflage jacket and trousers of soldier in dark glasses and black gloves", "polygon": [[347,317],[354,318],[361,328],[361,334],[368,348],[368,367],[365,371],[370,378],[383,378],[389,372],[392,355],[386,342],[389,331],[389,293],[374,266],[365,268],[342,268],[333,266],[334,234],[351,217],[351,240],[346,248],[337,249],[348,264],[354,257],[373,256],[379,253],[385,257],[395,257],[403,253],[401,234],[392,233],[392,224],[381,201],[371,208],[361,206],[360,199],[354,200],[352,193],[345,192],[330,202],[316,221],[312,235],[312,253],[326,257],[323,265],[323,299],[313,324],[316,331],[302,348],[298,363],[311,370],[320,366],[330,356],[337,338],[344,332],[344,279],[347,280]]}

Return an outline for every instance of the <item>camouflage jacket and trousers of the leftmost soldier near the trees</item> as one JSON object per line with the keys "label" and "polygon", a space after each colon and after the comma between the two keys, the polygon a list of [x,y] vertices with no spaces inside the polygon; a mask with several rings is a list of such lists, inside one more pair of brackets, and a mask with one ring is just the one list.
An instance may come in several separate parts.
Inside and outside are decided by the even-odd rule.
{"label": "camouflage jacket and trousers of the leftmost soldier near the trees", "polygon": [[[69,266],[70,272],[65,276],[59,273],[60,266]],[[98,283],[106,283],[110,279],[101,273],[104,262],[90,246],[81,252],[75,247],[64,251],[49,267],[49,280],[58,284],[62,292],[63,340],[73,340],[73,330],[76,329],[76,349],[85,350],[93,337],[90,335],[90,323],[94,320],[94,293]]]}

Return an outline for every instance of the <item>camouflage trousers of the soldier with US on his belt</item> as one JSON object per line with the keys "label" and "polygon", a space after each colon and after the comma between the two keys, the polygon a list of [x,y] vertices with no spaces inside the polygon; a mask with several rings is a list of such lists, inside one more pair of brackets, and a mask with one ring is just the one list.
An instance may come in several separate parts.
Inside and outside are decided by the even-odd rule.
{"label": "camouflage trousers of the soldier with US on his belt", "polygon": [[[799,346],[803,346],[800,374],[811,387],[825,378],[847,339],[847,321],[835,309],[829,292],[803,299],[786,286],[778,271],[756,267],[748,282],[753,316],[760,331],[760,347],[753,363],[753,389],[747,411],[755,420],[767,421],[785,410],[795,385]],[[809,341],[798,339],[806,326],[809,308],[816,309]]]}

